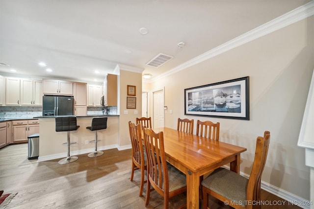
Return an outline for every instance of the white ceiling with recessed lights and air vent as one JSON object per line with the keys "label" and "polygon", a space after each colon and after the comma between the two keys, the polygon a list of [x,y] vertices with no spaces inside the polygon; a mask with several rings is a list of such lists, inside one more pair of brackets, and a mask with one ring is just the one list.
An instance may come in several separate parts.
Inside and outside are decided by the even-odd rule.
{"label": "white ceiling with recessed lights and air vent", "polygon": [[[309,1],[0,0],[0,62],[10,65],[0,75],[102,82],[118,64],[154,78]],[[158,53],[174,58],[146,66]]]}

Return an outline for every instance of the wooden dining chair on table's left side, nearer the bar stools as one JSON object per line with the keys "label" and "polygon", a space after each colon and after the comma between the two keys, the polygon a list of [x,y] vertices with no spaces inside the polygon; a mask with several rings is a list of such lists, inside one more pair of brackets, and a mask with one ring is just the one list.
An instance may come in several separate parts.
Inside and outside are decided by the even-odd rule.
{"label": "wooden dining chair on table's left side, nearer the bar stools", "polygon": [[129,132],[132,145],[132,170],[131,170],[131,181],[133,181],[134,171],[141,170],[141,184],[139,189],[139,196],[142,196],[144,183],[145,170],[147,170],[146,165],[146,155],[144,154],[143,140],[141,136],[140,126],[135,125],[133,122],[129,121]]}

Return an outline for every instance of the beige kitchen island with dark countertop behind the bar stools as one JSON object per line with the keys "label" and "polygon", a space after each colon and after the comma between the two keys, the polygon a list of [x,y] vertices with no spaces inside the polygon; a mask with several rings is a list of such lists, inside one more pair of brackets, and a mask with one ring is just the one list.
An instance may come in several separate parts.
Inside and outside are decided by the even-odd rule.
{"label": "beige kitchen island with dark countertop behind the bar stools", "polygon": [[[86,129],[91,126],[93,117],[108,117],[107,128],[98,131],[98,150],[116,148],[119,139],[119,116],[118,115],[93,115],[77,116],[78,130],[70,132],[70,140],[76,143],[71,144],[71,156],[88,154],[95,150],[95,143],[89,141],[95,139],[95,131]],[[39,157],[38,162],[48,161],[67,156],[67,132],[55,131],[54,116],[39,116]],[[88,142],[88,143],[87,143]]]}

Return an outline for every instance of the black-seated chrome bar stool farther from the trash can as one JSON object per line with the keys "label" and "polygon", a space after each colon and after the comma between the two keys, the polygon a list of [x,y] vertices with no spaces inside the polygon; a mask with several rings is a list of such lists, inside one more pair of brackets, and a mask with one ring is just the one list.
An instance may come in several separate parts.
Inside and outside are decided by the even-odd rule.
{"label": "black-seated chrome bar stool farther from the trash can", "polygon": [[96,158],[97,156],[101,156],[104,154],[102,151],[97,151],[97,131],[107,128],[107,117],[93,117],[92,126],[86,127],[87,129],[95,132],[95,140],[91,140],[90,142],[95,141],[95,151],[88,154],[90,158]]}

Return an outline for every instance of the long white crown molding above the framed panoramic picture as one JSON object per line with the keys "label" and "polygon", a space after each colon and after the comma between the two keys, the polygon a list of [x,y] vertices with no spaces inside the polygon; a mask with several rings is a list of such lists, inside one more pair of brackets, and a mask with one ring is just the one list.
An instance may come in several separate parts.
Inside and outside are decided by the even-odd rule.
{"label": "long white crown molding above the framed panoramic picture", "polygon": [[304,4],[303,6],[300,6],[268,23],[262,24],[261,26],[254,28],[253,30],[250,30],[235,39],[232,39],[220,46],[217,46],[193,59],[188,60],[187,62],[182,63],[181,65],[178,65],[177,67],[168,70],[165,73],[160,74],[159,76],[156,76],[154,79],[150,79],[150,82],[157,81],[165,76],[171,75],[173,73],[176,73],[178,71],[184,70],[186,68],[189,68],[191,66],[194,66],[198,63],[201,63],[205,60],[208,60],[212,57],[215,57],[219,54],[222,54],[226,51],[229,51],[237,46],[244,45],[250,41],[253,41],[255,39],[258,39],[264,35],[267,35],[269,33],[272,33],[276,30],[279,30],[283,27],[286,27],[290,24],[296,23],[300,20],[306,19],[310,16],[314,15],[314,0],[310,1],[309,3]]}

